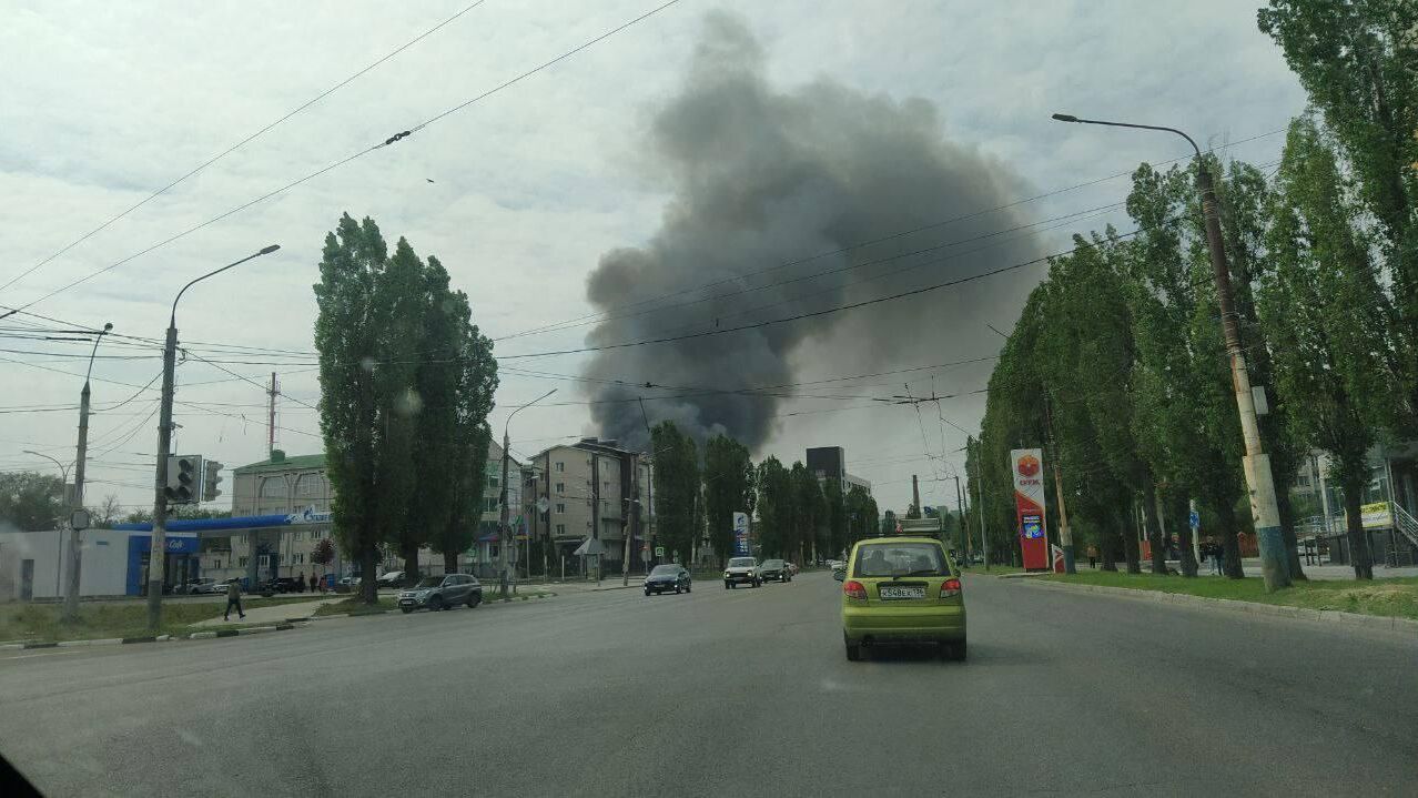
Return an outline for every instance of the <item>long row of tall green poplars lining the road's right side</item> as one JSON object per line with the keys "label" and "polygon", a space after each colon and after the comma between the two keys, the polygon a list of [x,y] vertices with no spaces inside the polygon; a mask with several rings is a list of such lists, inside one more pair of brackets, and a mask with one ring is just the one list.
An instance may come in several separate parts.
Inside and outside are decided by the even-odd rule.
{"label": "long row of tall green poplars lining the road's right side", "polygon": [[[1367,454],[1383,435],[1412,435],[1418,417],[1418,13],[1408,3],[1273,0],[1259,21],[1313,108],[1292,122],[1273,173],[1208,162],[1224,174],[1236,322],[1252,381],[1268,388],[1261,434],[1292,577],[1303,573],[1288,486],[1322,449],[1341,488],[1356,575],[1371,578],[1360,512]],[[1105,568],[1122,558],[1140,571],[1140,513],[1153,570],[1163,570],[1166,529],[1180,533],[1183,573],[1195,575],[1190,498],[1219,537],[1227,575],[1242,575],[1244,446],[1194,180],[1195,164],[1141,164],[1127,197],[1137,232],[1075,237],[1029,295],[970,446],[971,492],[983,473],[995,551],[1014,550],[1008,449],[1046,442],[1071,526]]]}

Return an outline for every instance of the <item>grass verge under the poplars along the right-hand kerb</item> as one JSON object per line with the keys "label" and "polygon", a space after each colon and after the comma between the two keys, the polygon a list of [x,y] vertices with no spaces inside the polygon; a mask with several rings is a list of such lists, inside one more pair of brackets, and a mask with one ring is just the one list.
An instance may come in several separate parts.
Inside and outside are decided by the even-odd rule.
{"label": "grass verge under the poplars along the right-hand kerb", "polygon": [[1153,574],[1126,574],[1112,571],[1081,571],[1073,575],[1051,574],[1039,577],[1049,581],[1073,584],[1096,584],[1130,590],[1153,590],[1180,592],[1205,598],[1228,598],[1232,601],[1255,601],[1282,607],[1303,607],[1306,609],[1337,609],[1360,615],[1385,615],[1418,619],[1418,577],[1350,581],[1310,580],[1295,583],[1289,590],[1265,592],[1261,577],[1228,580],[1222,577],[1160,577]]}

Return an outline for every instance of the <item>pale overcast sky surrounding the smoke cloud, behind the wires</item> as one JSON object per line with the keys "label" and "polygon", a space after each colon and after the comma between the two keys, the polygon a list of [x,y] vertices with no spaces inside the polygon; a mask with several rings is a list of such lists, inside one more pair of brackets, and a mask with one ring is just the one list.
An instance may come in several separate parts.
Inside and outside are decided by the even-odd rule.
{"label": "pale overcast sky surrounding the smoke cloud, behind the wires", "polygon": [[[0,1],[0,283],[468,4]],[[366,150],[657,4],[488,0],[0,289],[0,305],[44,298]],[[705,14],[720,9],[737,14],[759,38],[776,88],[828,78],[898,101],[923,98],[937,106],[946,139],[1012,172],[1027,191],[1020,198],[1187,152],[1184,142],[1164,135],[1051,122],[1054,111],[1178,126],[1202,146],[1261,136],[1227,153],[1271,163],[1282,145],[1278,130],[1303,109],[1305,98],[1279,51],[1256,31],[1254,6],[682,0],[393,146],[27,310],[84,326],[112,322],[115,333],[160,339],[183,283],[279,244],[278,254],[194,288],[179,309],[182,339],[309,352],[320,245],[349,211],[373,217],[391,244],[404,235],[420,255],[437,255],[492,337],[579,317],[588,310],[586,275],[600,255],[640,245],[659,227],[669,187],[640,157],[645,126],[683,79]],[[1031,201],[1021,213],[1029,221],[1048,220],[1120,201],[1126,187],[1123,179],[1107,180]],[[1041,242],[1045,251],[1058,249],[1069,234],[1109,220],[1126,227],[1116,214],[1085,217],[1044,232]],[[997,279],[1022,281],[1022,295],[1039,274]],[[1008,332],[1015,313],[1001,315],[994,326]],[[0,335],[34,325],[55,327],[35,316],[11,316],[0,322]],[[942,352],[987,356],[1003,343],[976,320],[961,327]],[[586,330],[506,340],[496,352],[576,347]],[[69,408],[82,386],[88,344],[10,336],[0,337],[0,469],[54,469],[23,449],[71,462],[78,414]],[[289,398],[279,401],[279,446],[289,454],[319,451],[316,414],[301,404],[315,404],[319,393],[309,357],[255,350],[218,357],[214,349],[201,352],[254,383],[281,371]],[[125,505],[150,506],[157,391],[138,388],[159,371],[157,352],[112,339],[99,354],[95,405],[138,395],[94,415],[88,503],[116,493]],[[577,374],[583,357],[518,366]],[[265,363],[271,360],[285,363]],[[849,373],[862,371],[818,363],[797,376]],[[912,390],[970,391],[983,388],[988,374],[988,363],[933,371]],[[228,466],[265,456],[259,387],[200,360],[186,361],[177,380],[179,401],[206,408],[177,408],[177,451]],[[556,400],[586,398],[579,383],[505,373],[493,427],[501,431],[508,407],[550,387],[559,388]],[[798,400],[783,410],[820,408],[821,401]],[[983,410],[983,397],[973,395],[944,401],[939,415],[930,408],[922,420],[893,407],[784,417],[756,455],[791,462],[805,446],[842,445],[848,469],[875,483],[882,509],[905,507],[912,473],[926,481],[926,505],[953,506],[954,483],[943,479],[963,463],[956,449],[964,434],[951,422],[977,429]],[[584,404],[527,410],[513,424],[513,449],[530,454],[581,434],[596,434]],[[926,459],[927,448],[936,459]],[[230,473],[224,486],[230,489]]]}

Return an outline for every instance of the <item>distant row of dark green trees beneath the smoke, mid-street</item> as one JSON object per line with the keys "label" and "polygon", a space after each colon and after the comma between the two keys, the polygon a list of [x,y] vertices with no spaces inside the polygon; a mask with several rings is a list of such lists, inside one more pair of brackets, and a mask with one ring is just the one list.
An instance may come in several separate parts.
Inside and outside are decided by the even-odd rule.
{"label": "distant row of dark green trees beneath the smoke, mid-street", "polygon": [[681,557],[708,537],[713,556],[727,558],[736,512],[756,519],[759,554],[798,563],[876,530],[876,502],[861,488],[844,493],[835,479],[820,483],[803,462],[784,466],[770,456],[754,465],[749,449],[727,435],[705,441],[700,462],[693,438],[662,421],[651,429],[651,454],[658,544]]}

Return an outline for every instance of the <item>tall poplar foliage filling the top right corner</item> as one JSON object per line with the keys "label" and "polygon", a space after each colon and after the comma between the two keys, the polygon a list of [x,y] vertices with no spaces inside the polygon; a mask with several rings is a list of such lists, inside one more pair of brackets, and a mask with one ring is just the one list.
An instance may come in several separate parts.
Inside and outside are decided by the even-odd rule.
{"label": "tall poplar foliage filling the top right corner", "polygon": [[[1402,387],[1418,411],[1418,4],[1411,0],[1271,0],[1256,14],[1309,94],[1378,221]],[[1394,412],[1390,411],[1390,412]]]}

